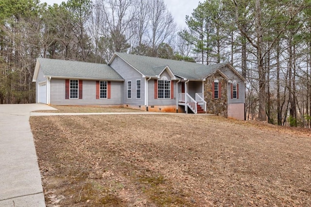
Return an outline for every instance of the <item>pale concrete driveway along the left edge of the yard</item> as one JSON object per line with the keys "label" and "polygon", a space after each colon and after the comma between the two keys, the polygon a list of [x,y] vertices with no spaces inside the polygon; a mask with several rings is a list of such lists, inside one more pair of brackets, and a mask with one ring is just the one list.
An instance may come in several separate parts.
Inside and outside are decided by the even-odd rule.
{"label": "pale concrete driveway along the left edge of the yard", "polygon": [[0,104],[0,207],[45,207],[30,129],[30,111],[43,104]]}

